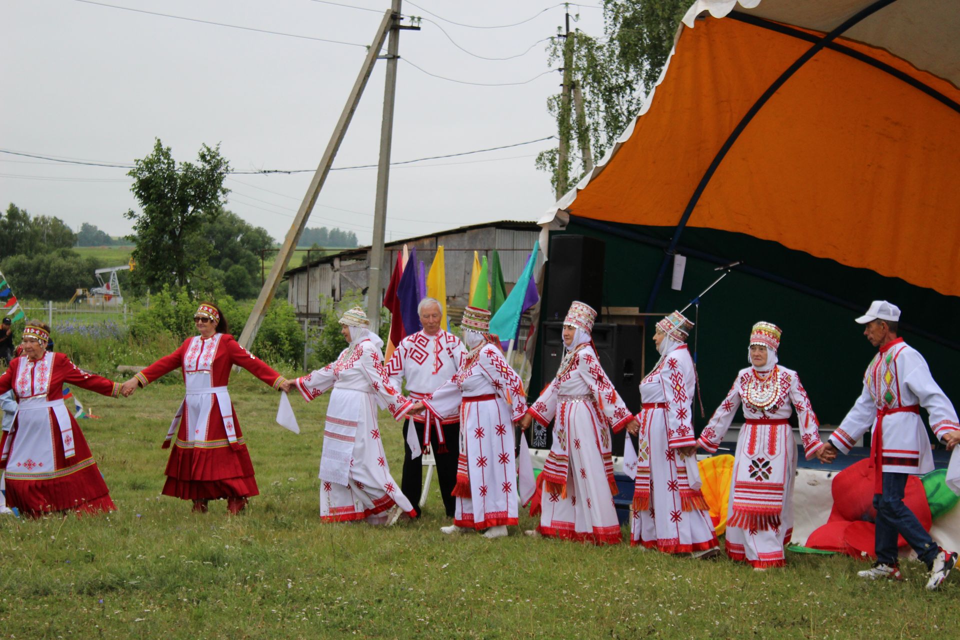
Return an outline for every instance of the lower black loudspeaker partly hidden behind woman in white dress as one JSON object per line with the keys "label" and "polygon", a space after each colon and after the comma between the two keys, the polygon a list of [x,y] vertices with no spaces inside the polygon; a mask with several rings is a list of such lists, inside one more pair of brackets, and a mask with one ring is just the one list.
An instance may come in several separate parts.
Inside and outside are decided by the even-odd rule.
{"label": "lower black loudspeaker partly hidden behind woman in white dress", "polygon": [[[557,367],[560,367],[560,361],[564,357],[563,330],[563,320],[543,322],[540,327],[540,390],[553,382]],[[597,348],[600,365],[632,414],[640,411],[639,384],[640,376],[643,375],[640,371],[641,340],[642,327],[638,324],[593,325],[593,344]],[[614,456],[623,455],[625,433],[621,431],[613,436]],[[553,431],[539,427],[534,422],[530,440],[531,447],[548,449],[553,443]]]}

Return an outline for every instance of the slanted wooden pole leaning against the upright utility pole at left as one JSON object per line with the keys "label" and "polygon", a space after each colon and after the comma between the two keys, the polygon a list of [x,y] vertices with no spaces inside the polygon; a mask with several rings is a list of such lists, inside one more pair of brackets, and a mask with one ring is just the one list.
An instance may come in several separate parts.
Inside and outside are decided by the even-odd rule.
{"label": "slanted wooden pole leaning against the upright utility pole at left", "polygon": [[[395,4],[398,4],[398,2]],[[313,206],[317,202],[317,196],[320,195],[320,190],[324,186],[326,176],[330,172],[330,167],[333,165],[333,158],[340,149],[340,143],[344,140],[344,135],[347,133],[350,120],[353,118],[353,112],[360,102],[360,96],[363,94],[364,87],[367,86],[367,81],[370,80],[373,64],[379,56],[380,48],[383,47],[383,41],[387,39],[387,33],[394,25],[394,22],[395,15],[393,10],[383,13],[383,20],[380,22],[380,26],[377,27],[376,35],[373,36],[370,50],[367,52],[367,58],[364,59],[356,82],[353,83],[353,88],[350,90],[347,105],[340,114],[340,119],[337,121],[337,126],[334,127],[330,141],[326,145],[326,150],[324,151],[323,157],[321,157],[317,172],[313,175],[313,179],[310,180],[310,186],[306,190],[306,195],[303,196],[303,201],[300,202],[300,209],[297,210],[297,215],[290,225],[290,230],[287,231],[283,245],[281,245],[276,254],[276,262],[274,266],[270,268],[266,282],[264,282],[263,288],[260,289],[260,295],[257,296],[256,302],[253,304],[250,318],[247,320],[247,324],[244,325],[243,333],[240,334],[239,342],[241,346],[250,348],[253,344],[253,338],[256,336],[257,329],[260,328],[260,324],[267,314],[267,307],[270,306],[270,301],[273,300],[276,295],[276,287],[279,285],[283,273],[287,269],[294,249],[297,249],[300,235],[303,233],[303,228],[306,226],[306,221],[310,217],[310,212],[313,211]]]}

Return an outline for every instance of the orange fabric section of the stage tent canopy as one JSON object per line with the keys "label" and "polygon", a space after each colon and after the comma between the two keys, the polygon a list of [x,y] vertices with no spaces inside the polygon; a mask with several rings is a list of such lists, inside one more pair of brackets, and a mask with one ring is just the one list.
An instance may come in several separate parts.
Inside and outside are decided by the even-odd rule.
{"label": "orange fabric section of the stage tent canopy", "polygon": [[[956,86],[883,49],[835,42],[960,103]],[[734,17],[697,20],[679,37],[649,110],[566,211],[677,225],[732,130],[811,46]],[[824,49],[733,142],[687,225],[746,233],[960,296],[958,149],[958,110]]]}

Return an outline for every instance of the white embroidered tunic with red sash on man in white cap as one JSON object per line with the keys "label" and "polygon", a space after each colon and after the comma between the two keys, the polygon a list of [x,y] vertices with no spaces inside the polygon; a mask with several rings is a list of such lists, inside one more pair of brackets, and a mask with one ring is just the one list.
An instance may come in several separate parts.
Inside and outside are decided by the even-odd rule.
{"label": "white embroidered tunic with red sash on man in white cap", "polygon": [[[840,426],[830,436],[833,445],[849,453],[873,428],[872,449],[886,473],[924,474],[933,470],[923,407],[938,439],[960,429],[947,395],[930,375],[924,356],[902,338],[884,344],[863,376],[863,391]],[[877,447],[877,445],[879,445]]]}

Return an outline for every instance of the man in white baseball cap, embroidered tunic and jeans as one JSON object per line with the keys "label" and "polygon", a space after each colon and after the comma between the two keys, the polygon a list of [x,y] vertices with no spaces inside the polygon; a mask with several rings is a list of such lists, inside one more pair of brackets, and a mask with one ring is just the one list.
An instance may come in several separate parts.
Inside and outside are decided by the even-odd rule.
{"label": "man in white baseball cap, embroidered tunic and jeans", "polygon": [[934,435],[952,449],[960,443],[960,421],[940,389],[924,356],[898,337],[900,309],[886,300],[874,300],[856,319],[863,335],[878,348],[863,376],[863,392],[826,445],[832,460],[837,451],[850,453],[853,444],[873,427],[871,458],[875,470],[876,562],[861,578],[903,580],[897,564],[897,535],[903,536],[929,571],[926,588],[937,589],[957,561],[957,554],[941,548],[903,504],[909,475],[933,470],[933,454],[926,438],[923,406]]}

